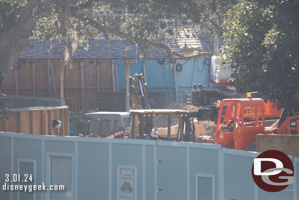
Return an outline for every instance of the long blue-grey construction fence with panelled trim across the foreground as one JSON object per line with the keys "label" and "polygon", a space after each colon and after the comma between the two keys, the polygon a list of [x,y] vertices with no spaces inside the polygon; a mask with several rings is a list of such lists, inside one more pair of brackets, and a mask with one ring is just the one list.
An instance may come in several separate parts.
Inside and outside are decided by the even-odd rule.
{"label": "long blue-grey construction fence with panelled trim across the foreground", "polygon": [[[54,156],[72,159],[72,200],[118,199],[120,169],[134,172],[135,200],[297,200],[299,158],[294,158],[295,183],[266,193],[251,176],[257,155],[213,144],[0,133],[0,180],[18,173],[20,162],[30,162],[34,184],[50,184]],[[45,200],[50,193],[34,196]],[[18,192],[1,190],[0,199],[17,200]]]}

